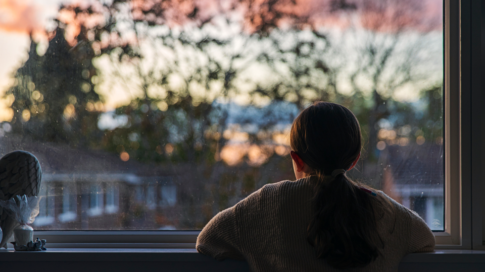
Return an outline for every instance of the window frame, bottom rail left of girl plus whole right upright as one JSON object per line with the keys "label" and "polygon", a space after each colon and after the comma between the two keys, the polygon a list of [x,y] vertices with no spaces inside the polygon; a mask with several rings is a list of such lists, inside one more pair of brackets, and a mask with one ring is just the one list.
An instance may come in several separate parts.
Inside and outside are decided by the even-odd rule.
{"label": "window frame, bottom rail left of girl plus whole right upright", "polygon": [[[481,151],[474,157],[471,137],[481,139],[485,135],[485,99],[481,96],[480,85],[473,85],[470,74],[472,55],[480,55],[480,50],[471,50],[472,31],[477,23],[471,20],[472,6],[480,8],[480,4],[472,0],[444,1],[444,97],[445,97],[445,231],[434,232],[437,249],[483,249],[485,229],[482,219],[485,219],[485,201],[481,201],[483,193],[483,176],[480,169],[471,176],[472,163],[485,162],[485,144],[479,146],[473,142],[473,148]],[[480,17],[481,20],[481,17]],[[480,21],[479,20],[479,21]],[[479,25],[480,22],[478,22]],[[480,34],[478,29],[478,34]],[[479,43],[478,43],[479,44]],[[477,58],[477,57],[475,57]],[[477,58],[475,61],[481,61]],[[479,72],[478,72],[479,73]],[[477,75],[475,75],[477,76]],[[478,75],[478,79],[485,78]],[[478,86],[476,86],[478,84]],[[474,95],[472,101],[471,96]],[[475,99],[478,97],[478,99]],[[470,105],[474,107],[473,114],[479,113],[479,118],[472,119]],[[472,130],[472,124],[476,124]],[[480,130],[480,126],[483,127]],[[483,132],[482,132],[483,131]],[[472,133],[473,132],[473,133]],[[483,157],[483,158],[482,158]],[[472,186],[473,185],[473,186]],[[473,189],[473,201],[472,199]],[[472,205],[473,202],[473,205]],[[472,207],[473,207],[473,239],[472,239]],[[193,248],[199,231],[34,231],[35,236],[47,239],[53,247],[142,247],[142,248]],[[473,245],[472,245],[473,241]]]}

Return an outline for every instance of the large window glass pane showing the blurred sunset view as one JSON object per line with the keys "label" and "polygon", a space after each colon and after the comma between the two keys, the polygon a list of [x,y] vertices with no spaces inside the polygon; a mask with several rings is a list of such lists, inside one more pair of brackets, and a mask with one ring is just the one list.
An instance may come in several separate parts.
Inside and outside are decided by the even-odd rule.
{"label": "large window glass pane showing the blurred sunset view", "polygon": [[165,2],[3,7],[0,153],[41,163],[36,229],[202,229],[295,179],[324,100],[361,123],[348,175],[444,230],[442,1]]}

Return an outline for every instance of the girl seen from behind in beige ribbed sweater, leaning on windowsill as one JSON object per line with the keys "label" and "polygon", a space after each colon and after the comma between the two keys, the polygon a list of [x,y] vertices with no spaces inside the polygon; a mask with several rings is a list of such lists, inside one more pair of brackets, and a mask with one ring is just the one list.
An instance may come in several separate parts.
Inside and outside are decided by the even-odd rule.
{"label": "girl seen from behind in beige ribbed sweater, leaning on windowsill", "polygon": [[199,252],[247,260],[253,271],[397,271],[406,254],[434,249],[416,213],[345,175],[362,149],[349,109],[306,108],[290,146],[297,180],[267,184],[217,214],[197,239]]}

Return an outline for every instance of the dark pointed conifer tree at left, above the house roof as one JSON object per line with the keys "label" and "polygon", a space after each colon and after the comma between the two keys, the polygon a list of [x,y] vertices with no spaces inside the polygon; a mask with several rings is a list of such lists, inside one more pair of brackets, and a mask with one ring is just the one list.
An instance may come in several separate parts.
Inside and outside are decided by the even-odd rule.
{"label": "dark pointed conifer tree at left, above the house roof", "polygon": [[15,98],[13,132],[34,141],[91,146],[91,137],[100,135],[98,115],[86,109],[87,103],[100,101],[90,81],[96,74],[93,56],[89,47],[70,46],[62,28],[56,29],[42,56],[32,41],[29,59],[6,93]]}

